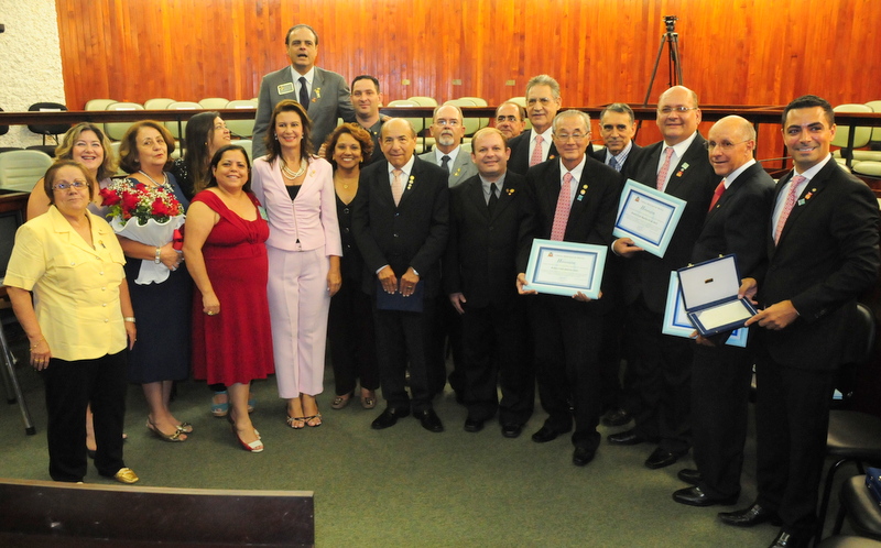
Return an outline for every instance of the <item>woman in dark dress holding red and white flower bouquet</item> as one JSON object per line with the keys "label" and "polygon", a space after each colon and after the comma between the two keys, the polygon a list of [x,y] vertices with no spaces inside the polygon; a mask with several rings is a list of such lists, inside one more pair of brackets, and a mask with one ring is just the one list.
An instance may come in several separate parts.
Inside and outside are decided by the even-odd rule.
{"label": "woman in dark dress holding red and white flower bouquet", "polygon": [[180,267],[184,257],[173,242],[189,205],[166,171],[173,151],[174,138],[164,125],[135,122],[119,146],[120,166],[131,175],[101,194],[129,257],[126,277],[139,322],[129,381],[143,388],[150,408],[146,427],[162,440],[184,441],[193,427],[174,417],[168,401],[173,382],[189,374],[193,284]]}

